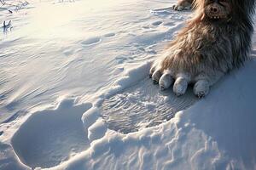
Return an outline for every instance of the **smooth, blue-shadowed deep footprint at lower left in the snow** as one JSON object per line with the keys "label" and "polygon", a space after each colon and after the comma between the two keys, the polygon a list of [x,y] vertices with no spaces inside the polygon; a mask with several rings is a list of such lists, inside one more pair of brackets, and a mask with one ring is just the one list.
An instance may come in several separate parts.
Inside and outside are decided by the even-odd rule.
{"label": "smooth, blue-shadowed deep footprint at lower left in the snow", "polygon": [[56,110],[38,111],[12,138],[20,161],[29,167],[53,167],[89,145],[81,117],[91,104],[62,101]]}

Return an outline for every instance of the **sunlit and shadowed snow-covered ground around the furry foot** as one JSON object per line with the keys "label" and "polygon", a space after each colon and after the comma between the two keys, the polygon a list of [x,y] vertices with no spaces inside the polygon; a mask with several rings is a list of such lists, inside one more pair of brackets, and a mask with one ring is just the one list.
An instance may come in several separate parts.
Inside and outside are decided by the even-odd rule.
{"label": "sunlit and shadowed snow-covered ground around the furry foot", "polygon": [[174,3],[2,6],[0,169],[256,169],[256,34],[206,98],[161,92],[150,64],[190,14]]}

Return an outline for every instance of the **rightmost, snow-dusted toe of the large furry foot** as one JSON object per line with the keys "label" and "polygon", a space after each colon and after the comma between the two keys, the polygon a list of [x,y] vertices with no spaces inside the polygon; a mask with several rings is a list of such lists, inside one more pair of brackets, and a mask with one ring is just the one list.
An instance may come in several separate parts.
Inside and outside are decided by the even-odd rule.
{"label": "rightmost, snow-dusted toe of the large furry foot", "polygon": [[209,89],[209,82],[207,80],[200,80],[198,82],[195,82],[194,94],[201,99],[209,93]]}

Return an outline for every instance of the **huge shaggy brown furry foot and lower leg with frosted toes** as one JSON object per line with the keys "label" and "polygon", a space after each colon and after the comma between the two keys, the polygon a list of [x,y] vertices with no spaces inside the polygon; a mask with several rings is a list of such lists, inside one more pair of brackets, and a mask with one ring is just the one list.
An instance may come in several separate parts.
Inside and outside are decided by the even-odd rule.
{"label": "huge shaggy brown furry foot and lower leg with frosted toes", "polygon": [[160,88],[174,82],[177,95],[194,82],[203,97],[209,87],[248,58],[253,34],[255,0],[195,0],[195,16],[154,62],[150,74]]}

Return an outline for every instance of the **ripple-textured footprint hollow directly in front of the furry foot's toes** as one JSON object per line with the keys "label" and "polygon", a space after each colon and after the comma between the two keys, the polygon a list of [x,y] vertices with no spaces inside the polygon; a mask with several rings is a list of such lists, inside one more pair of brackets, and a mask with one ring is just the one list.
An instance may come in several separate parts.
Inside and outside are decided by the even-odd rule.
{"label": "ripple-textured footprint hollow directly in front of the furry foot's toes", "polygon": [[105,99],[102,117],[108,128],[120,133],[131,133],[166,122],[177,111],[188,108],[196,101],[191,89],[185,96],[177,98],[172,90],[159,91],[146,78],[124,92]]}

